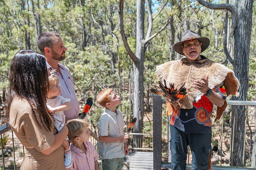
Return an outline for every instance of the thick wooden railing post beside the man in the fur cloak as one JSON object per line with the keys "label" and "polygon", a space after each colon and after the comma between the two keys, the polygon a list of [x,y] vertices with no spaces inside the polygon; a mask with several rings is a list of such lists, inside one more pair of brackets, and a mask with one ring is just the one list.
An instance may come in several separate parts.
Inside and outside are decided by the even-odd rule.
{"label": "thick wooden railing post beside the man in the fur cloak", "polygon": [[154,170],[161,169],[162,163],[162,113],[161,97],[153,95],[153,167]]}

